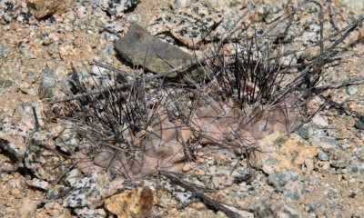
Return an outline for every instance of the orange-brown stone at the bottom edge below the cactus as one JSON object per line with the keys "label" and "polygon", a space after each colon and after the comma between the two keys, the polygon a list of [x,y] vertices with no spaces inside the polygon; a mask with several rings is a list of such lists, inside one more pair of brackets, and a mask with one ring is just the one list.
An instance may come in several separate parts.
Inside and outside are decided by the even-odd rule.
{"label": "orange-brown stone at the bottom edge below the cactus", "polygon": [[147,187],[140,187],[106,199],[106,209],[122,217],[144,217],[150,213],[153,205],[153,192]]}

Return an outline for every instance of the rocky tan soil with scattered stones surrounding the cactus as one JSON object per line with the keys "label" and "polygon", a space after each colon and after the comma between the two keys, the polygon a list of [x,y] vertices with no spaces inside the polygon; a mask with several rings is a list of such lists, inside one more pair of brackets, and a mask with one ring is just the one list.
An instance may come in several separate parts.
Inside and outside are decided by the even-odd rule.
{"label": "rocky tan soil with scattered stones surrounding the cactus", "polygon": [[[252,14],[264,29],[301,2],[265,0]],[[93,61],[142,74],[140,66],[135,71],[141,63],[132,58],[127,63],[114,48],[129,26],[142,26],[188,58],[208,53],[247,5],[235,0],[0,1],[0,217],[226,217],[167,177],[129,181],[99,168],[81,172],[55,152],[65,152],[62,143],[80,144],[76,135],[46,117],[56,110],[49,103],[69,89],[71,62],[86,84],[92,83],[88,70],[99,71]],[[324,35],[331,35],[363,15],[364,3],[332,0],[323,3],[323,11]],[[285,33],[284,40],[291,37],[298,49],[296,62],[298,56],[309,60],[319,54],[319,46],[312,46],[319,41],[318,15],[318,5],[302,6]],[[339,45],[345,52],[325,65],[322,84],[364,74],[363,35],[361,25]],[[349,84],[325,96],[359,114],[363,92],[362,83]],[[315,97],[308,111],[323,103]],[[184,163],[177,175],[241,217],[364,217],[363,131],[358,115],[328,104],[295,133],[259,140],[249,158],[198,144],[196,161]]]}

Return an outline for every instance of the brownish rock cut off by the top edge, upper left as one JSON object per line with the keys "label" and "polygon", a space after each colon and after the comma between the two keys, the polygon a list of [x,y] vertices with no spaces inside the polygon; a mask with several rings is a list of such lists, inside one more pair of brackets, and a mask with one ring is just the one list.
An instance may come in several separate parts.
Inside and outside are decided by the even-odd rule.
{"label": "brownish rock cut off by the top edge, upper left", "polygon": [[74,4],[75,0],[30,0],[27,2],[30,13],[37,19],[48,15],[62,14],[71,9]]}

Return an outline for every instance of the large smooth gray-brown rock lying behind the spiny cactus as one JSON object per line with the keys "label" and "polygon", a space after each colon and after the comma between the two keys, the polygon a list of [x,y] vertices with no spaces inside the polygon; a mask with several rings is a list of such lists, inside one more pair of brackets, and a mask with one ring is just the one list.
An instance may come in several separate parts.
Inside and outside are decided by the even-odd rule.
{"label": "large smooth gray-brown rock lying behind the spiny cactus", "polygon": [[[174,45],[165,43],[147,33],[140,25],[131,25],[126,35],[115,43],[116,52],[127,62],[144,66],[153,73],[163,73],[181,64],[189,64],[196,58]],[[184,70],[194,77],[203,74],[197,66]],[[168,74],[176,77],[177,73]]]}

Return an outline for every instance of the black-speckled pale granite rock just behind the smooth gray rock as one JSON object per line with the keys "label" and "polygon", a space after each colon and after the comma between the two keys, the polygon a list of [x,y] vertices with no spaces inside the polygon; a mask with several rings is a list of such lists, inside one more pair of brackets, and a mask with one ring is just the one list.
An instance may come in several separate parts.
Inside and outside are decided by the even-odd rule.
{"label": "black-speckled pale granite rock just behind the smooth gray rock", "polygon": [[184,45],[197,48],[220,21],[221,15],[211,12],[205,5],[196,4],[157,16],[147,30],[152,35],[169,32]]}

